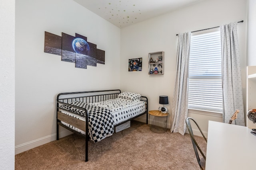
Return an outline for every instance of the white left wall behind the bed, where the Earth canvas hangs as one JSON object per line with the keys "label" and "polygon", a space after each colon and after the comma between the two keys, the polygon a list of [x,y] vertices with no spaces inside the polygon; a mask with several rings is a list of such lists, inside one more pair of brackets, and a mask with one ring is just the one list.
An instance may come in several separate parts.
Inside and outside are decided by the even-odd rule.
{"label": "white left wall behind the bed, where the Earth canvas hangs", "polygon": [[[44,53],[44,31],[86,36],[105,51],[105,64],[75,68]],[[17,0],[15,45],[16,153],[56,140],[58,93],[120,88],[120,29],[73,0]]]}

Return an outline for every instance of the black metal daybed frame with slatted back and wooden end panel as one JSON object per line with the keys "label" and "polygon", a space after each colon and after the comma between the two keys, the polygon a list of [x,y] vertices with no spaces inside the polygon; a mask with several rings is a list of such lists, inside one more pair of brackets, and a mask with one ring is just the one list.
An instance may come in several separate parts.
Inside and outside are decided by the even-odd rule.
{"label": "black metal daybed frame with slatted back and wooden end panel", "polygon": [[[59,140],[59,125],[72,131],[73,133],[76,133],[77,135],[80,135],[82,137],[84,137],[86,140],[85,140],[85,162],[88,161],[88,141],[89,141],[89,130],[88,130],[88,112],[85,108],[82,108],[82,107],[78,107],[78,106],[74,106],[74,105],[70,105],[68,103],[70,102],[75,102],[75,101],[82,101],[82,102],[85,102],[85,103],[94,103],[94,102],[101,102],[101,101],[104,101],[104,100],[109,100],[109,99],[114,99],[114,98],[117,98],[118,97],[118,94],[121,93],[121,90],[98,90],[98,91],[87,91],[87,92],[68,92],[68,93],[60,93],[58,94],[57,96],[57,99],[56,99],[56,117],[57,117],[57,140]],[[141,113],[140,115],[137,115],[135,117],[132,117],[126,121],[123,121],[121,123],[118,123],[117,125],[114,125],[114,127],[118,126],[118,125],[121,125],[123,123],[126,123],[132,119],[135,119],[136,117],[140,117],[141,115],[144,115],[146,114],[146,124],[148,124],[148,98],[146,96],[141,96],[140,97],[140,100],[144,101],[146,103],[146,111],[144,113]],[[71,107],[76,107],[78,109],[81,109],[83,111],[85,111],[85,116],[82,116],[82,117],[85,117],[86,119],[86,135],[83,135],[81,133],[78,133],[77,131],[73,130],[73,129],[70,129],[69,127],[66,127],[65,125],[63,125],[60,120],[58,119],[58,111],[59,109],[62,109],[64,110],[63,108],[60,108],[59,107],[59,104],[64,104],[66,106],[71,106]],[[66,110],[68,111],[68,110]],[[69,111],[70,112],[70,111]],[[73,113],[73,112],[72,112]],[[73,113],[73,114],[76,114],[78,115],[77,113]]]}

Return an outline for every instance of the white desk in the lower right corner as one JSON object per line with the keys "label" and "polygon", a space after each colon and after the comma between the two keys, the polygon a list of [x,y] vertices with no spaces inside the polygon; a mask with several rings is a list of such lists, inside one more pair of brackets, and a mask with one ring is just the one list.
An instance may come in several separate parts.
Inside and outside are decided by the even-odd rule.
{"label": "white desk in the lower right corner", "polygon": [[256,170],[256,136],[251,129],[209,121],[206,170]]}

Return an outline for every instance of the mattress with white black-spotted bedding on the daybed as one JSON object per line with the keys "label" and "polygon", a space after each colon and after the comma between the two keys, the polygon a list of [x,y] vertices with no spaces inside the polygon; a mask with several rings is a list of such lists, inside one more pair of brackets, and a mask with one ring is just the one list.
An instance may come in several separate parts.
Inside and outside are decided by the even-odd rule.
{"label": "mattress with white black-spotted bedding on the daybed", "polygon": [[[77,101],[80,102],[80,101]],[[80,102],[81,103],[81,102]],[[74,104],[74,102],[70,103]],[[123,121],[126,121],[132,117],[136,117],[137,115],[140,115],[141,113],[144,113],[146,111],[146,104],[144,101],[140,101],[140,99],[134,99],[134,100],[129,100],[129,99],[123,99],[123,98],[116,98],[116,99],[110,99],[110,100],[105,100],[102,102],[96,102],[96,103],[89,103],[88,105],[92,106],[98,106],[98,107],[103,107],[106,108],[107,110],[110,111],[112,121],[114,125],[117,125],[118,123],[122,123]],[[62,107],[62,106],[60,106]],[[67,107],[64,107],[67,109]],[[69,108],[70,109],[70,108]],[[75,117],[77,119],[80,119],[82,121],[85,121],[84,111],[80,109],[70,109],[74,111],[77,114],[70,113],[68,111],[60,110],[60,112]],[[89,111],[88,111],[89,113]],[[68,123],[61,121],[61,123],[70,129],[73,129],[77,131],[78,133],[86,134],[85,131],[78,129],[72,125],[69,125]],[[106,137],[110,136],[112,134],[106,135]]]}

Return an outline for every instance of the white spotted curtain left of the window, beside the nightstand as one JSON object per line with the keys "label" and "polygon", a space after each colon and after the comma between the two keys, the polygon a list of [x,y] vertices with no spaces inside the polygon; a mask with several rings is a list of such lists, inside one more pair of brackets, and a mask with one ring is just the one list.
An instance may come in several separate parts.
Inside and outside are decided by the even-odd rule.
{"label": "white spotted curtain left of the window, beside the nightstand", "polygon": [[188,62],[190,53],[191,33],[179,33],[176,80],[172,102],[171,132],[184,135],[186,131],[186,118],[188,117]]}

